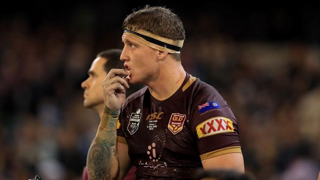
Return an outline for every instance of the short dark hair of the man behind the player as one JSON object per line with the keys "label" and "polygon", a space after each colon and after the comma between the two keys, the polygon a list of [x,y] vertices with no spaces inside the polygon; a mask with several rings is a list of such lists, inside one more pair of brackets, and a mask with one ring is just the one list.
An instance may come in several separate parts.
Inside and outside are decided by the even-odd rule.
{"label": "short dark hair of the man behind the player", "polygon": [[111,69],[123,69],[123,62],[120,60],[122,50],[121,49],[109,49],[102,51],[96,55],[96,57],[101,57],[106,59],[106,63],[103,65],[105,72],[109,72]]}

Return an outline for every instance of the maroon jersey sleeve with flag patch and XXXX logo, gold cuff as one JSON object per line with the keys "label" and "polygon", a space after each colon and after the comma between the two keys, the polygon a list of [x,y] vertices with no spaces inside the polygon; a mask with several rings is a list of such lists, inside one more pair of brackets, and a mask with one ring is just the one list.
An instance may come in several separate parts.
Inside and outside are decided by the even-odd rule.
{"label": "maroon jersey sleeve with flag patch and XXXX logo, gold cuff", "polygon": [[198,90],[192,99],[191,128],[202,160],[241,153],[238,122],[223,97],[209,85]]}

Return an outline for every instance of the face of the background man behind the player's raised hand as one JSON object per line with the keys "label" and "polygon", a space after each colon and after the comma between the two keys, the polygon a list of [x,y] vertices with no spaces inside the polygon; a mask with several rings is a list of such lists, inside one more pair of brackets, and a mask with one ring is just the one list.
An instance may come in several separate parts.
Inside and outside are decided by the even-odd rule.
{"label": "face of the background man behind the player's raised hand", "polygon": [[102,81],[107,73],[103,66],[106,62],[105,58],[97,57],[91,64],[88,71],[89,77],[82,82],[81,87],[85,90],[83,93],[84,101],[83,105],[86,108],[95,108],[97,105],[102,104],[103,90]]}

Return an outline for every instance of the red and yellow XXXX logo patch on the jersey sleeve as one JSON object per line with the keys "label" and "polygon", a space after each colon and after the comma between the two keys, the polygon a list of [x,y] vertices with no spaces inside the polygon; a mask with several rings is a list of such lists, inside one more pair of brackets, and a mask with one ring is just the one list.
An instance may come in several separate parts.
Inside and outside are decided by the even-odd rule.
{"label": "red and yellow XXXX logo patch on the jersey sleeve", "polygon": [[214,117],[197,125],[196,132],[200,139],[219,133],[234,132],[234,127],[233,122],[230,119],[225,117]]}

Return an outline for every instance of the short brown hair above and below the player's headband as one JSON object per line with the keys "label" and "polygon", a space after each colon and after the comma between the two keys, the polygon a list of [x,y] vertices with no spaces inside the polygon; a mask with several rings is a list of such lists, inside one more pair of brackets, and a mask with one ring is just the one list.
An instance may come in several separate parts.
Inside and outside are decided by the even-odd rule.
{"label": "short brown hair above and below the player's headband", "polygon": [[[185,40],[186,33],[179,16],[165,7],[146,5],[129,14],[122,25],[123,29],[150,31],[173,40]],[[170,54],[175,60],[181,60],[180,54]]]}

